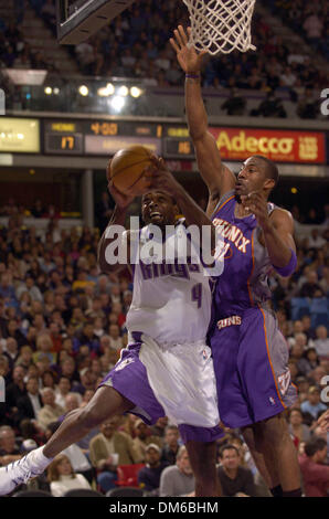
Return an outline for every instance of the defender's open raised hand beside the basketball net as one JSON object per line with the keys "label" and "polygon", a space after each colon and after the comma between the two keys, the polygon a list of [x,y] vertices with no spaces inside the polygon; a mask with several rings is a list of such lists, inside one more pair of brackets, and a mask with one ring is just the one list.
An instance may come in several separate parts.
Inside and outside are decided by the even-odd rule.
{"label": "defender's open raised hand beside the basketball net", "polygon": [[206,54],[206,51],[201,51],[198,54],[195,49],[188,44],[190,33],[191,28],[188,28],[188,30],[184,31],[182,25],[178,25],[178,29],[173,31],[174,38],[170,38],[169,41],[184,73],[199,74],[202,57]]}

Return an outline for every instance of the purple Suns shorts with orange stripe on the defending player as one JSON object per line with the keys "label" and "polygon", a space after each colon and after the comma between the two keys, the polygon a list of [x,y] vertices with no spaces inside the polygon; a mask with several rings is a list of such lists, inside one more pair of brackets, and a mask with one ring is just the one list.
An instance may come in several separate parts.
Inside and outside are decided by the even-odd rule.
{"label": "purple Suns shorts with orange stripe on the defending player", "polygon": [[288,345],[273,313],[248,308],[226,314],[210,342],[219,411],[226,427],[244,427],[275,416],[296,401]]}

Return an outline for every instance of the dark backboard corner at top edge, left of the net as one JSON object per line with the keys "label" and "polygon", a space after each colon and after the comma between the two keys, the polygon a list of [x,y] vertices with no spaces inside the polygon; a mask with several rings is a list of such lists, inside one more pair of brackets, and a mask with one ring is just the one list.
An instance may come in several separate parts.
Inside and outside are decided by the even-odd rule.
{"label": "dark backboard corner at top edge, left of the net", "polygon": [[135,0],[56,0],[57,40],[75,45],[87,40]]}

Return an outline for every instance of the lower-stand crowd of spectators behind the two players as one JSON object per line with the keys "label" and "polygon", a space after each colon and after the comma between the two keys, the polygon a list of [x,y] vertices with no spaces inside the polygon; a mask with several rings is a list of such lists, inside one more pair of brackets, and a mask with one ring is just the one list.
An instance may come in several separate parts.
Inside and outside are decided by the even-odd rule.
{"label": "lower-stand crowd of spectators behind the two players", "polygon": [[[98,229],[60,231],[51,220],[40,234],[34,226],[22,225],[13,204],[8,206],[8,225],[0,229],[0,375],[6,380],[6,402],[0,403],[2,465],[44,444],[67,412],[91,400],[127,345],[125,321],[132,296],[128,272],[99,274]],[[38,208],[39,203],[35,213],[31,211],[35,220],[43,215]],[[287,415],[290,434],[305,481],[310,472],[319,475],[319,481],[307,483],[304,490],[322,496],[329,444],[316,421],[328,405],[322,385],[329,375],[328,237],[326,219],[321,227],[298,241],[294,275],[270,278],[273,308],[299,391]],[[51,466],[47,478],[31,485],[54,495],[74,485],[94,485],[105,494],[116,486],[117,467],[131,465],[131,480],[148,495],[191,495],[193,475],[180,446],[178,430],[166,417],[153,427],[132,415],[116,417],[68,447]],[[238,431],[227,431],[219,442],[219,476],[226,495],[268,495]]]}

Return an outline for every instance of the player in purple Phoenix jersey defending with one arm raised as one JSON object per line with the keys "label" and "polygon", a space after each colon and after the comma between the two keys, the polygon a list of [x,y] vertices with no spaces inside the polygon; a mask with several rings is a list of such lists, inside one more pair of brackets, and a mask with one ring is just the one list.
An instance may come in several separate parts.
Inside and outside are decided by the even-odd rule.
{"label": "player in purple Phoenix jersey defending with one arm raised", "polygon": [[[190,29],[188,30],[190,31]],[[185,108],[199,170],[209,188],[208,214],[225,241],[224,271],[213,299],[210,345],[220,416],[242,428],[255,463],[275,496],[301,496],[296,448],[284,411],[296,400],[288,348],[268,307],[268,275],[296,268],[290,213],[268,203],[278,180],[274,162],[248,158],[237,179],[221,161],[201,95],[201,62],[180,25],[171,45],[185,72]]]}

